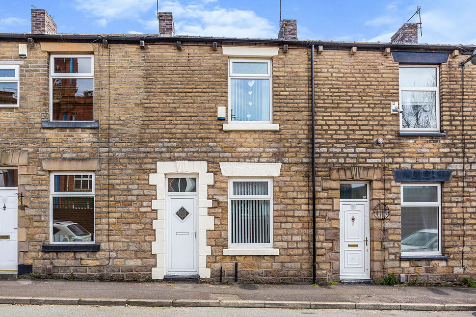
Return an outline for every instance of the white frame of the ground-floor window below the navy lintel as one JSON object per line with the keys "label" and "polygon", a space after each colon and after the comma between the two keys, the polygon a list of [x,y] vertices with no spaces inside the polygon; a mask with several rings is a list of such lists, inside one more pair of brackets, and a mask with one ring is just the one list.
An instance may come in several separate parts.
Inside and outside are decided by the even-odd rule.
{"label": "white frame of the ground-floor window below the navy lintel", "polygon": [[[435,186],[438,191],[437,202],[417,202],[417,203],[405,203],[403,201],[403,187],[407,186]],[[402,256],[439,256],[442,255],[442,221],[441,221],[441,184],[440,183],[405,183],[400,187],[400,207],[438,207],[438,251],[428,252],[401,252]],[[401,217],[401,209],[400,209]],[[401,223],[401,220],[400,220]]]}

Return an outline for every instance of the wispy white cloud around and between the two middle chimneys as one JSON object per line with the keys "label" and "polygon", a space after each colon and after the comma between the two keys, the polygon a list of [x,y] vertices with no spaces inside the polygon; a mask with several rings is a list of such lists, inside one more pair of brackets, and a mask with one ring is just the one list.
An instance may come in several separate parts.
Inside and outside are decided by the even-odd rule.
{"label": "wispy white cloud around and between the two middle chimneys", "polygon": [[[277,26],[252,10],[209,7],[206,2],[184,5],[179,1],[164,1],[160,3],[159,10],[173,13],[176,34],[261,38],[278,36]],[[156,19],[139,22],[154,33],[158,30]]]}

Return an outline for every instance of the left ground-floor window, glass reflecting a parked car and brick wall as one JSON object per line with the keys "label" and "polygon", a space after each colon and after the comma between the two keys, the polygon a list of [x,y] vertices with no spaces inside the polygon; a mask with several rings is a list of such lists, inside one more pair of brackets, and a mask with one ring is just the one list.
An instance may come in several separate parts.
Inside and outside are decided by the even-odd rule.
{"label": "left ground-floor window, glass reflecting a parked car and brick wall", "polygon": [[51,173],[50,187],[51,243],[94,243],[94,173]]}

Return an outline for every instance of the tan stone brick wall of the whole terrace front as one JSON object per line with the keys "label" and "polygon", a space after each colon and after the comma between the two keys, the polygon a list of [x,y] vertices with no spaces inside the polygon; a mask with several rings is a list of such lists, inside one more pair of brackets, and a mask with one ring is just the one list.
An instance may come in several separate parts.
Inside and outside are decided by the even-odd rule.
{"label": "tan stone brick wall of the whole terrace front", "polygon": [[[0,60],[15,59],[18,43],[0,42]],[[110,63],[108,60],[110,58]],[[316,55],[317,263],[320,281],[339,278],[339,183],[336,168],[360,166],[370,175],[370,207],[384,199],[391,216],[371,218],[372,277],[404,272],[424,281],[452,281],[474,272],[475,163],[466,164],[466,240],[462,268],[461,78],[458,56],[440,67],[441,127],[447,136],[399,136],[398,64],[381,52],[327,51]],[[152,210],[156,162],[205,160],[214,174],[208,231],[212,279],[298,282],[311,278],[310,50],[290,46],[273,57],[273,131],[223,131],[216,107],[227,106],[227,56],[203,43],[95,46],[95,118],[100,129],[41,128],[49,120],[48,53],[29,48],[20,70],[20,107],[0,108],[0,150],[28,154],[19,169],[27,197],[19,263],[58,276],[146,279],[156,258]],[[475,156],[476,70],[467,67],[467,155]],[[109,85],[110,82],[110,85]],[[110,98],[110,103],[109,103]],[[473,99],[471,99],[473,98]],[[110,125],[110,130],[108,127]],[[382,137],[384,143],[373,140]],[[42,158],[101,158],[96,177],[96,241],[99,252],[42,252],[50,239],[50,173]],[[274,179],[274,247],[279,256],[223,256],[228,246],[228,178],[219,162],[281,162]],[[442,185],[443,254],[448,261],[400,261],[400,184],[394,168],[450,168]],[[109,209],[108,209],[109,206]],[[109,211],[109,214],[107,214]],[[371,217],[373,217],[371,215]],[[109,235],[108,235],[109,234]],[[109,243],[108,243],[109,241]],[[110,252],[109,252],[110,250]],[[109,260],[110,256],[110,260]],[[99,266],[103,265],[103,266]]]}

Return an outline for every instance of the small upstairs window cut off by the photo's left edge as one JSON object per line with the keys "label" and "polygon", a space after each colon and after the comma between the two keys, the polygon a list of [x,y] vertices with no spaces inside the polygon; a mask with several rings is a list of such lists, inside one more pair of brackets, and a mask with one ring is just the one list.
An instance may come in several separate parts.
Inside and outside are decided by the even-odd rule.
{"label": "small upstairs window cut off by the photo's left edge", "polygon": [[20,105],[20,65],[0,65],[0,107]]}

